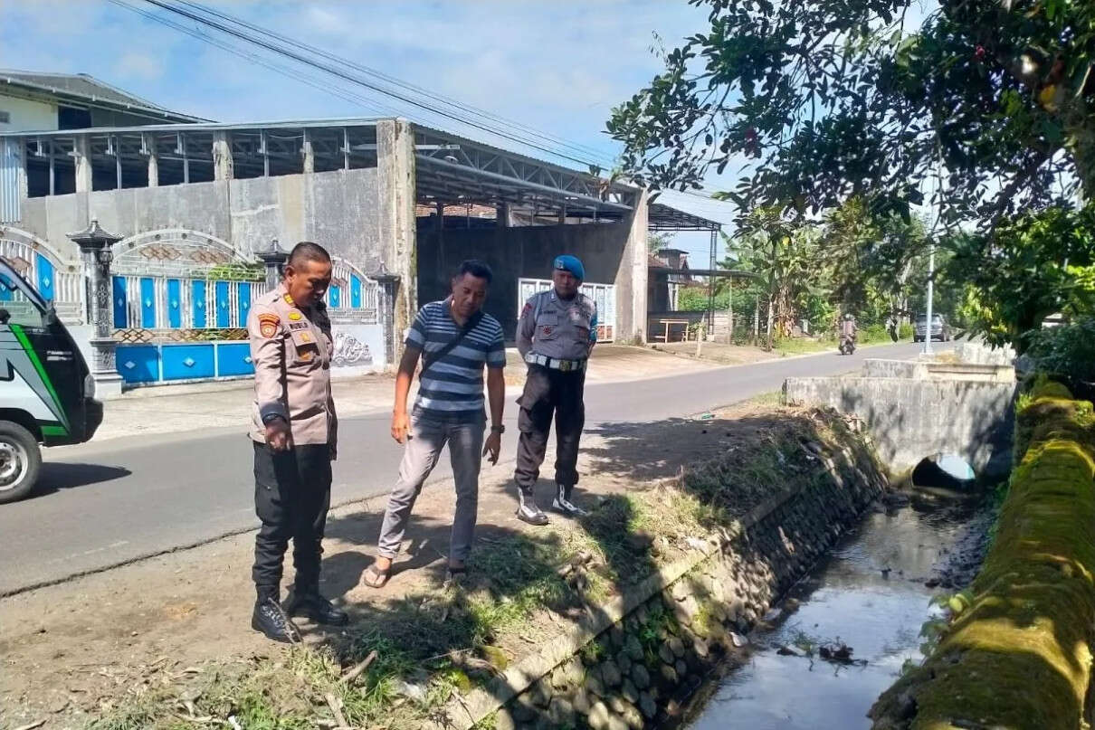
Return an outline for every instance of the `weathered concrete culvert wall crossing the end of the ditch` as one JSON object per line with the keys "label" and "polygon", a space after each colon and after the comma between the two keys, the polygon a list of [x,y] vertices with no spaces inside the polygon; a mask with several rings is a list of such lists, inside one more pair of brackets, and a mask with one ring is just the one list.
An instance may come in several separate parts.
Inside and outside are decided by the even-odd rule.
{"label": "weathered concrete culvert wall crossing the end of the ditch", "polygon": [[1015,375],[1008,366],[867,360],[846,378],[792,378],[788,404],[855,415],[895,473],[936,454],[957,454],[978,476],[1012,465]]}

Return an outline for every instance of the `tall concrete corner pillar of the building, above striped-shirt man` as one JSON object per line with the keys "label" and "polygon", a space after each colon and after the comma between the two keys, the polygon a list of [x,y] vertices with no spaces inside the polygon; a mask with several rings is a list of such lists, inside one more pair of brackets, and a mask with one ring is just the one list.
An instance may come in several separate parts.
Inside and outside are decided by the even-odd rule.
{"label": "tall concrete corner pillar of the building, above striped-shirt man", "polygon": [[392,331],[387,333],[397,352],[418,306],[414,131],[406,119],[377,121],[377,167],[381,260],[400,280],[392,302]]}

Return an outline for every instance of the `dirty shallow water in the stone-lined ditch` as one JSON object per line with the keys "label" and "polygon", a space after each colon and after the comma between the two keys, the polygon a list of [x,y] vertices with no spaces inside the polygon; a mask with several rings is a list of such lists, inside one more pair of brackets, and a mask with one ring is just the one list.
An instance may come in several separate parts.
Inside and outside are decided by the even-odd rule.
{"label": "dirty shallow water in the stone-lined ditch", "polygon": [[984,503],[922,489],[877,503],[753,629],[740,665],[723,668],[675,725],[869,728],[878,695],[906,661],[922,659],[921,627],[938,613],[932,596],[976,575],[991,523]]}

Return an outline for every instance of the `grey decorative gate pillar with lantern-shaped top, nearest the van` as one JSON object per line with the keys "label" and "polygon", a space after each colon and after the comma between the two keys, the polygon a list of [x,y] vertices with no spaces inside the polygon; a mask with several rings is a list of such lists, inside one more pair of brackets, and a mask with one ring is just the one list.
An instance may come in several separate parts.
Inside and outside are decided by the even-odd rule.
{"label": "grey decorative gate pillar with lantern-shaped top, nearest the van", "polygon": [[99,225],[91,223],[82,231],[69,233],[68,237],[80,246],[80,258],[83,262],[87,311],[84,317],[92,326],[91,375],[95,380],[95,397],[100,401],[117,398],[122,395],[122,375],[115,360],[117,341],[113,337],[114,312],[111,306],[111,262],[114,254],[111,250],[122,240],[120,235],[107,233]]}

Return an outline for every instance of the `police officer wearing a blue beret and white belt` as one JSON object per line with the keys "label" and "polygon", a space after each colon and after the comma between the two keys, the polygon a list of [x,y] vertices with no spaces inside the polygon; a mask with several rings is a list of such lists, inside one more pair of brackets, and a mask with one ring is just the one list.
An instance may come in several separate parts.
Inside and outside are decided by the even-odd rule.
{"label": "police officer wearing a blue beret and white belt", "polygon": [[572,501],[578,483],[578,440],[586,424],[586,362],[597,343],[597,304],[578,290],[585,278],[580,260],[557,256],[552,263],[554,287],[529,299],[517,323],[517,349],[529,371],[519,401],[521,436],[514,478],[520,500],[517,517],[529,524],[548,524],[532,489],[553,418],[556,487],[552,507],[570,517],[586,513]]}

